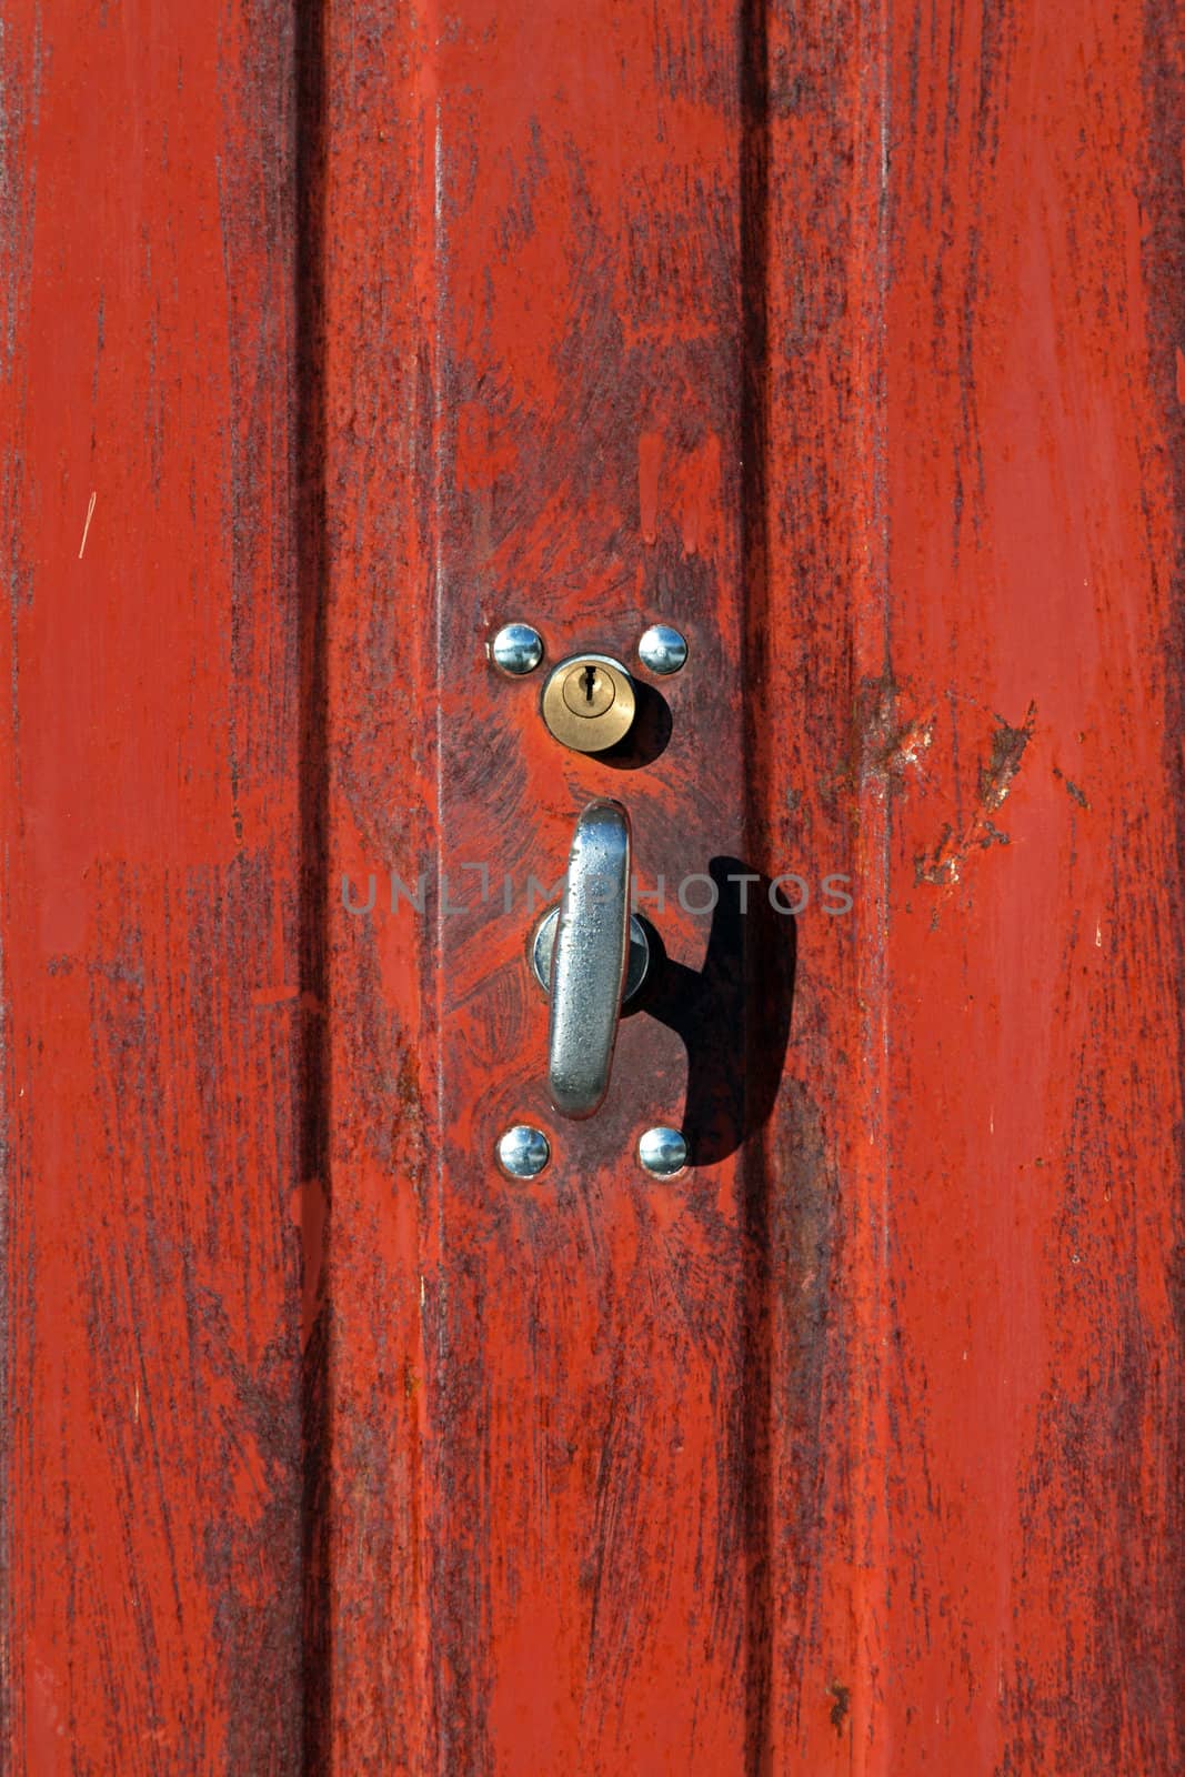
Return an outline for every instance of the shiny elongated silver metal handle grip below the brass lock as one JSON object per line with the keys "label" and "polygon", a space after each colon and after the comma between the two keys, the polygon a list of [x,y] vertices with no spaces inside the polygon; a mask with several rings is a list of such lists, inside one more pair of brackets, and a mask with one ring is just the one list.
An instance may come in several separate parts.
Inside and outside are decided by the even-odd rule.
{"label": "shiny elongated silver metal handle grip below the brass lock", "polygon": [[551,961],[547,1088],[561,1116],[604,1102],[629,960],[629,816],[590,801],[576,823]]}

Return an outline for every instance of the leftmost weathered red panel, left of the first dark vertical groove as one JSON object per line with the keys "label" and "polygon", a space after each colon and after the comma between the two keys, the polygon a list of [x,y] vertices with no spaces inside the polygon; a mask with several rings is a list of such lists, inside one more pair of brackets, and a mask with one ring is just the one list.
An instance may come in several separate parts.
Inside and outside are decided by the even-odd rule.
{"label": "leftmost weathered red panel, left of the first dark vertical groove", "polygon": [[165,11],[18,4],[0,44],[2,1763],[36,1777],[302,1738],[291,32]]}

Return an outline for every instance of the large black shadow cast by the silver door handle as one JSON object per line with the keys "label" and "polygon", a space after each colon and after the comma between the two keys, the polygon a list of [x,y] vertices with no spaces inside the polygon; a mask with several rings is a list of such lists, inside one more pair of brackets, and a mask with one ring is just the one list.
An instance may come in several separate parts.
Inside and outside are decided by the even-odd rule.
{"label": "large black shadow cast by the silver door handle", "polygon": [[[702,968],[657,951],[638,1009],[675,1031],[688,1050],[682,1130],[693,1166],[736,1153],[773,1111],[791,1040],[798,920],[769,903],[769,878],[739,858],[712,858],[718,899]],[[757,878],[746,883],[728,878]]]}

